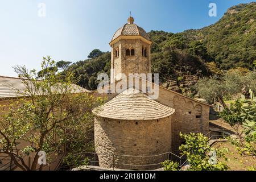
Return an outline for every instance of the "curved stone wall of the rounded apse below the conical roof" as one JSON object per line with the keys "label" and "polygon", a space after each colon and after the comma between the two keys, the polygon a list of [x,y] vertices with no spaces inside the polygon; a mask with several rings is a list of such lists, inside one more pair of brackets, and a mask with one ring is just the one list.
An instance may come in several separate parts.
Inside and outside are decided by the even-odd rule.
{"label": "curved stone wall of the rounded apse below the conical roof", "polygon": [[159,168],[159,165],[142,164],[157,164],[168,159],[168,154],[147,156],[171,151],[171,116],[152,121],[118,121],[96,117],[94,137],[101,167],[113,167],[114,158],[115,168]]}

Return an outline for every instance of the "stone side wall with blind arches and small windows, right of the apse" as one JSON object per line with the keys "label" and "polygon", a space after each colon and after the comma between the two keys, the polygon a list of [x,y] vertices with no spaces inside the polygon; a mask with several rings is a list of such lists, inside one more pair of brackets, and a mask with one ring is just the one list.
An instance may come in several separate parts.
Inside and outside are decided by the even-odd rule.
{"label": "stone side wall with blind arches and small windows, right of the apse", "polygon": [[191,100],[190,98],[170,92],[159,87],[161,104],[175,109],[172,115],[172,152],[179,153],[179,146],[183,142],[179,133],[203,133],[209,132],[209,109],[208,105]]}

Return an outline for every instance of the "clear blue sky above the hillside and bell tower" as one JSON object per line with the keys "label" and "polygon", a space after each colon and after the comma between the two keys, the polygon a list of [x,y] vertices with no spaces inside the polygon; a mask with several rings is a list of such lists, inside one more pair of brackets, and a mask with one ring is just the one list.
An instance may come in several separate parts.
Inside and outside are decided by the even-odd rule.
{"label": "clear blue sky above the hillside and bell tower", "polygon": [[[126,23],[150,30],[181,32],[217,22],[233,5],[246,0],[0,0],[0,75],[16,76],[14,65],[40,69],[43,56],[85,60],[94,48],[110,51],[109,41]],[[208,15],[216,3],[217,17]],[[38,16],[39,3],[46,17]]]}

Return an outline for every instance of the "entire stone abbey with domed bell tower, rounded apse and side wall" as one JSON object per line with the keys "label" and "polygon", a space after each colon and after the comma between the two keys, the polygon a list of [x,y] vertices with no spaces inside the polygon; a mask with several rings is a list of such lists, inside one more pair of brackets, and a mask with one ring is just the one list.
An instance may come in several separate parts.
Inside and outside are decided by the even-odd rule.
{"label": "entire stone abbey with domed bell tower, rounded apse and side wall", "polygon": [[[112,69],[110,85],[105,89],[130,77],[129,73],[151,73],[151,41],[146,31],[134,24],[133,17],[115,32],[109,44]],[[183,142],[180,132],[208,133],[210,105],[144,81],[158,86],[158,98],[142,92],[141,86],[126,86],[122,93],[92,93],[108,98],[108,102],[94,109],[100,167],[159,168],[168,152],[179,153]]]}

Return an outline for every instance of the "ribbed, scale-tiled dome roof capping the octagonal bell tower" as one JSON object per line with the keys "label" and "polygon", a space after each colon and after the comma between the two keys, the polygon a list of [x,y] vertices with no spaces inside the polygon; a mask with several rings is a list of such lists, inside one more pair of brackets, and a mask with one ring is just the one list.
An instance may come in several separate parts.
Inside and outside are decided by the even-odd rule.
{"label": "ribbed, scale-tiled dome roof capping the octagonal bell tower", "polygon": [[121,36],[121,35],[126,35],[126,36],[127,36],[127,35],[129,35],[129,36],[140,35],[140,36],[142,36],[143,38],[145,38],[145,39],[147,39],[147,40],[150,40],[149,36],[147,35],[147,32],[144,31],[143,28],[137,26],[137,24],[129,24],[129,23],[126,23],[123,27],[119,28],[119,29],[115,32],[115,34],[114,34],[114,36],[113,36],[111,42],[112,42],[114,39],[116,39],[116,38],[118,38],[119,36]]}

